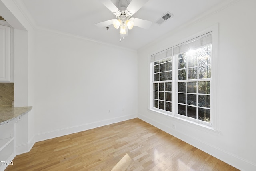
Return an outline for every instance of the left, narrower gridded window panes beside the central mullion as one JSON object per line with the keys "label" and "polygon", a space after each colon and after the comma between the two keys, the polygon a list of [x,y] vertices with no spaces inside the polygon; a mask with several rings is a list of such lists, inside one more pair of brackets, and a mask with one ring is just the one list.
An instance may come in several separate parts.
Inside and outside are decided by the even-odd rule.
{"label": "left, narrower gridded window panes beside the central mullion", "polygon": [[172,57],[154,62],[153,107],[172,111]]}

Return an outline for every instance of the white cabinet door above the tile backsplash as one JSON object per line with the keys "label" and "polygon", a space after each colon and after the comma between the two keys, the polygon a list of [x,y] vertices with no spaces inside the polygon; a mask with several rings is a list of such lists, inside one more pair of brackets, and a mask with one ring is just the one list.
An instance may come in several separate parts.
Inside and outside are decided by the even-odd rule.
{"label": "white cabinet door above the tile backsplash", "polygon": [[10,27],[0,25],[0,82],[10,82]]}

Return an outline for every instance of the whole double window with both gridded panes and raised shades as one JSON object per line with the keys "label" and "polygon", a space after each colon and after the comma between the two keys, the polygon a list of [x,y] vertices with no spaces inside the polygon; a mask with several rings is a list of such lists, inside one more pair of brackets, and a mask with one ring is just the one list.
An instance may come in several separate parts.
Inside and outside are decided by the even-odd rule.
{"label": "whole double window with both gridded panes and raised shades", "polygon": [[211,124],[212,32],[151,56],[152,109]]}

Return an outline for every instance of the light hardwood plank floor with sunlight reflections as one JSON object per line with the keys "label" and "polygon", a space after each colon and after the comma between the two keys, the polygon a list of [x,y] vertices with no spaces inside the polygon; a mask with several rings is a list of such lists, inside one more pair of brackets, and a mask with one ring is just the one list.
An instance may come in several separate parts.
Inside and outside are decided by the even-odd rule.
{"label": "light hardwood plank floor with sunlight reflections", "polygon": [[237,171],[136,118],[35,143],[6,171]]}

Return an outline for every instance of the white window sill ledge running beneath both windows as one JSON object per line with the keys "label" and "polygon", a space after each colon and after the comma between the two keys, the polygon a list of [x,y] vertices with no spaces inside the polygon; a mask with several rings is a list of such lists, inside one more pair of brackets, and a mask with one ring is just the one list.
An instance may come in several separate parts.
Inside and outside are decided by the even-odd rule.
{"label": "white window sill ledge running beneath both windows", "polygon": [[181,117],[178,117],[178,116],[173,116],[171,114],[164,113],[164,112],[161,112],[161,111],[157,111],[157,110],[154,110],[154,109],[148,109],[148,110],[151,111],[154,114],[158,114],[158,115],[168,117],[168,118],[170,118],[170,119],[172,119],[172,120],[174,120],[178,123],[184,124],[188,127],[194,127],[196,129],[200,129],[200,130],[206,131],[208,133],[213,133],[215,135],[219,135],[221,133],[219,130],[214,129],[212,126],[208,126],[208,125],[205,125],[205,124],[202,124],[202,123],[190,121],[188,119],[184,119],[184,118],[181,118]]}

